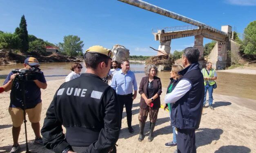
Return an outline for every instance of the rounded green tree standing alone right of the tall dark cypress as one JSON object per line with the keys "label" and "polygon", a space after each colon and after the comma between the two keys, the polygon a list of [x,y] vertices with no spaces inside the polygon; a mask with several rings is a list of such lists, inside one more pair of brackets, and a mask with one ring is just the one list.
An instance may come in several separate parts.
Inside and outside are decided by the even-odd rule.
{"label": "rounded green tree standing alone right of the tall dark cypress", "polygon": [[64,36],[63,43],[59,43],[60,52],[69,56],[78,56],[82,53],[84,44],[76,35]]}

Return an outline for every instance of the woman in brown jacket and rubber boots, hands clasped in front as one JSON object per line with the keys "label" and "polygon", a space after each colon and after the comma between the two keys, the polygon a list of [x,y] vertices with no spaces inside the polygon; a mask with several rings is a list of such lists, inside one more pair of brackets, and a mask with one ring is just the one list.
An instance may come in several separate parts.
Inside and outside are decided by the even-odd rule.
{"label": "woman in brown jacket and rubber boots, hands clasped in front", "polygon": [[144,127],[149,114],[150,120],[150,133],[148,141],[151,142],[154,139],[154,127],[156,125],[156,119],[158,110],[160,108],[160,94],[162,93],[162,84],[160,78],[156,77],[158,74],[157,67],[155,65],[149,65],[145,69],[146,77],[143,77],[140,81],[139,93],[140,98],[140,132],[138,140],[141,142],[144,139]]}

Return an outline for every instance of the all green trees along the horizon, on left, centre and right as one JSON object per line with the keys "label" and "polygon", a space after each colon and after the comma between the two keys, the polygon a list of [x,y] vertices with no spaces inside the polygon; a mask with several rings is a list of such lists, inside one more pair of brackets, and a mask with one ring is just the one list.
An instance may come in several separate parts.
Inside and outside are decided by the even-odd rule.
{"label": "all green trees along the horizon, on left, centre and right", "polygon": [[[256,21],[247,25],[242,34],[243,39],[238,36],[241,34],[234,32],[233,38],[240,44],[240,54],[248,59],[256,59]],[[212,41],[204,46],[204,55],[208,56],[216,42]],[[34,35],[29,35],[27,31],[27,22],[25,16],[22,15],[20,25],[15,29],[14,33],[5,33],[0,31],[0,49],[11,49],[16,52],[29,53],[38,52],[40,54],[46,53],[46,47],[52,46],[58,48],[63,55],[82,56],[82,48],[84,43],[80,37],[76,35],[64,36],[63,42],[53,44],[43,39],[37,38]],[[172,54],[174,60],[180,59],[183,51],[175,50]],[[146,60],[149,56],[129,56],[131,60]]]}

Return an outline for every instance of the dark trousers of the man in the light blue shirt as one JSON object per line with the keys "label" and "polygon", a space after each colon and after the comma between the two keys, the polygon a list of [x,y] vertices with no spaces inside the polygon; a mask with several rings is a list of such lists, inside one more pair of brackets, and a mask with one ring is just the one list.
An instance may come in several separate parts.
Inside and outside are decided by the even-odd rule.
{"label": "dark trousers of the man in the light blue shirt", "polygon": [[[126,110],[126,116],[127,116],[127,125],[128,127],[131,127],[131,108],[132,108],[132,102],[133,102],[133,96],[131,94],[126,94],[126,95],[117,95],[118,103],[120,103],[120,110],[121,110],[121,123],[122,123],[122,112],[124,110],[124,105],[125,105],[125,110]],[[121,125],[121,124],[120,124]]]}

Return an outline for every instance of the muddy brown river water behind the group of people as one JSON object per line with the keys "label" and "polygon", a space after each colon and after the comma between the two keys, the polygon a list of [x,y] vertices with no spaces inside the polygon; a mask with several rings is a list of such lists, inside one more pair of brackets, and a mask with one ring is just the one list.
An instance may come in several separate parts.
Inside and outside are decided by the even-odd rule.
{"label": "muddy brown river water behind the group of people", "polygon": [[[69,62],[42,63],[40,69],[44,72],[47,81],[64,79],[71,72],[71,64]],[[82,72],[85,72],[85,64],[83,62],[81,64],[83,66]],[[130,65],[133,72],[140,73],[140,76],[144,75],[144,64],[131,63]],[[10,70],[22,67],[22,64],[0,66],[0,84],[2,85]],[[217,72],[217,76],[218,87],[214,90],[215,94],[256,99],[256,75]],[[161,78],[163,87],[167,87],[170,77],[169,72],[159,72],[158,77]],[[137,82],[139,83],[140,80],[137,80]]]}

